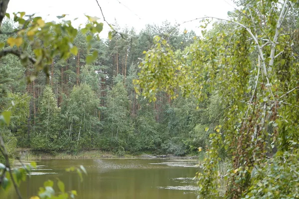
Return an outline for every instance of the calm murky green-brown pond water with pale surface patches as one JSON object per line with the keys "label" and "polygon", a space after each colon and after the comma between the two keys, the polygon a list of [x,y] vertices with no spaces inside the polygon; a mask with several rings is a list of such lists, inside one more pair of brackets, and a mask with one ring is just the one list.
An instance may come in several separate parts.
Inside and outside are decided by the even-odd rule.
{"label": "calm murky green-brown pond water with pale surface patches", "polygon": [[[66,190],[77,190],[77,199],[196,199],[198,188],[192,180],[198,170],[195,164],[173,159],[39,161],[20,191],[28,199],[36,195],[44,181],[56,182],[59,178]],[[83,183],[77,174],[65,172],[65,168],[79,165],[88,172]],[[0,199],[16,198],[12,191],[5,195],[1,193]]]}

